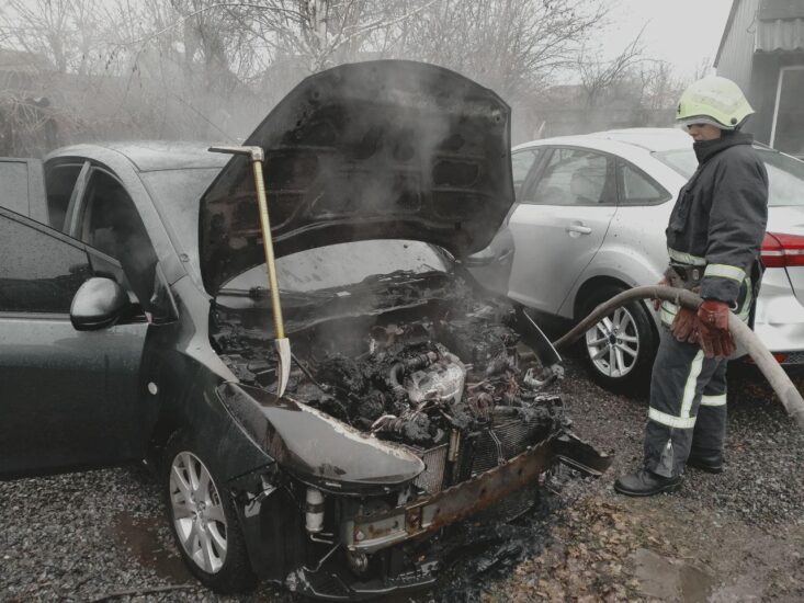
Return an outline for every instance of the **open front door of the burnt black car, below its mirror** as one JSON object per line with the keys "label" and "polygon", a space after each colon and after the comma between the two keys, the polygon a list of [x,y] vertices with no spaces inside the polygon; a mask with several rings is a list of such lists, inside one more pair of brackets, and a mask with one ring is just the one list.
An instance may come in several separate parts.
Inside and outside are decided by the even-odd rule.
{"label": "open front door of the burnt black car, below its mirror", "polygon": [[0,476],[135,458],[138,368],[147,325],[73,329],[73,295],[90,276],[122,280],[113,259],[0,209]]}

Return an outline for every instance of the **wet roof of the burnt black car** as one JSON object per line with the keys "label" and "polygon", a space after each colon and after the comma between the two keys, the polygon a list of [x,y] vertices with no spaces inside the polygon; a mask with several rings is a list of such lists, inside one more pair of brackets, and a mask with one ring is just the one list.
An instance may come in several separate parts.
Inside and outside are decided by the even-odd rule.
{"label": "wet roof of the burnt black car", "polygon": [[228,155],[210,152],[210,143],[175,140],[129,140],[73,145],[56,149],[49,157],[95,157],[103,151],[116,151],[125,156],[137,171],[180,170],[194,168],[223,168]]}

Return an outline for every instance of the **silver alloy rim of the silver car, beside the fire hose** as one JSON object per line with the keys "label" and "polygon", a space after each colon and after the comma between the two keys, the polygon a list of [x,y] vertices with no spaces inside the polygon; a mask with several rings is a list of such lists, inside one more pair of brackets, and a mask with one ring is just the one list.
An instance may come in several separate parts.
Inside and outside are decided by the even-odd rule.
{"label": "silver alloy rim of the silver car, beside the fire hose", "polygon": [[639,357],[639,333],[634,316],[618,308],[586,332],[586,346],[594,368],[611,378],[624,377]]}

